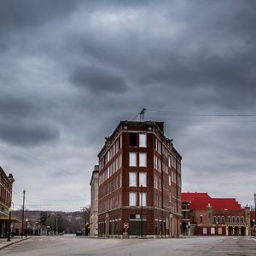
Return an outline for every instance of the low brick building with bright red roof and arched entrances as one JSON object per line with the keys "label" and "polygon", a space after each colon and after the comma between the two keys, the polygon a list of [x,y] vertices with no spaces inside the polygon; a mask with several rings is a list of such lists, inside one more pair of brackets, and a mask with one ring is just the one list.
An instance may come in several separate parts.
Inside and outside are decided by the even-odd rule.
{"label": "low brick building with bright red roof and arched entrances", "polygon": [[249,236],[250,208],[235,198],[212,198],[207,193],[182,193],[183,234]]}

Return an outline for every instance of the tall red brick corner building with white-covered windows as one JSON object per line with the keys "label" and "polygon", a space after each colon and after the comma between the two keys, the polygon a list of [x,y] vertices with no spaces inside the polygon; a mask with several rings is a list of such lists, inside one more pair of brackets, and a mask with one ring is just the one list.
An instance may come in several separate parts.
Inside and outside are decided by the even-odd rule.
{"label": "tall red brick corner building with white-covered windows", "polygon": [[98,157],[99,236],[181,234],[182,157],[164,123],[121,121]]}

